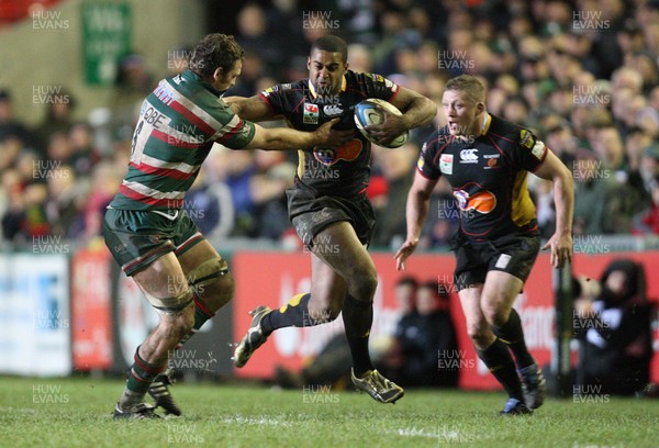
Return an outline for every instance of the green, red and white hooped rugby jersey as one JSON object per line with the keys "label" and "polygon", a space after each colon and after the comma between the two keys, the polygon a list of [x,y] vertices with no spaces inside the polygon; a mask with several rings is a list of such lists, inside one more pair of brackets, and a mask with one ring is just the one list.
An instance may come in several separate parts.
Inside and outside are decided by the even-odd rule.
{"label": "green, red and white hooped rugby jersey", "polygon": [[142,103],[129,171],[110,206],[181,209],[213,143],[239,149],[254,133],[193,71],[163,79]]}

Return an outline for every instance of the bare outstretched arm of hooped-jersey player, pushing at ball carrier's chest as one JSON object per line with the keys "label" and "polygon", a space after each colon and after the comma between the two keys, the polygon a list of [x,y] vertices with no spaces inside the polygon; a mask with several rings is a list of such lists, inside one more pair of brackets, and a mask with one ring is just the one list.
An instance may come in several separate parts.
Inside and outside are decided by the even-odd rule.
{"label": "bare outstretched arm of hooped-jersey player, pushing at ball carrier's chest", "polygon": [[252,142],[244,149],[298,150],[312,146],[340,146],[354,136],[354,131],[333,130],[338,119],[333,119],[314,132],[301,132],[288,127],[264,128],[255,124]]}

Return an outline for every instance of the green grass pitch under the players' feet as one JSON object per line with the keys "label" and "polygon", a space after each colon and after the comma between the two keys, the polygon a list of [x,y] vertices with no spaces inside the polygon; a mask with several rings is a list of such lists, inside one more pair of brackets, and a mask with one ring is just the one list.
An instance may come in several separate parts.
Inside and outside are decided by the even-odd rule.
{"label": "green grass pitch under the players' feet", "polygon": [[504,394],[407,390],[395,405],[364,393],[254,385],[172,388],[183,416],[115,422],[123,381],[0,378],[1,447],[658,447],[659,402],[548,400],[501,417]]}

